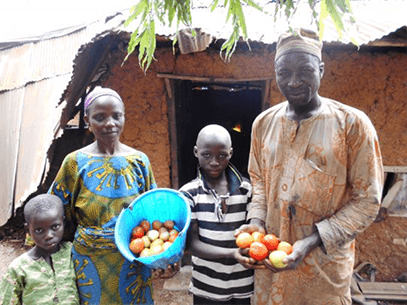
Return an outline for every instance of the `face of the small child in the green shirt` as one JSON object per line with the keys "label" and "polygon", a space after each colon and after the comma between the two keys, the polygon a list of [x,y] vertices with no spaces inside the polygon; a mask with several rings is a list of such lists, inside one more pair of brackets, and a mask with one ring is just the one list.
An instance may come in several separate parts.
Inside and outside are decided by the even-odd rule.
{"label": "face of the small child in the green shirt", "polygon": [[55,253],[64,234],[63,211],[56,207],[37,213],[31,217],[26,228],[37,250],[44,255]]}

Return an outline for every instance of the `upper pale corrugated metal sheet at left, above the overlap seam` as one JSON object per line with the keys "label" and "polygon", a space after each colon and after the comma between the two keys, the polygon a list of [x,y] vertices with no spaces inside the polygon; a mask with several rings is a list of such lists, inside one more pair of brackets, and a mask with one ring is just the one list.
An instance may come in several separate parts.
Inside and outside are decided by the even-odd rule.
{"label": "upper pale corrugated metal sheet at left, above the overlap seam", "polygon": [[[119,19],[119,21],[113,19],[108,23],[98,20],[89,25],[72,28],[73,31],[62,30],[60,31],[62,36],[51,33],[38,37],[38,41],[30,40],[29,43],[1,50],[0,92],[71,73],[72,62],[79,47],[96,34],[118,26],[123,17],[120,16]],[[14,45],[14,42],[11,45]]]}

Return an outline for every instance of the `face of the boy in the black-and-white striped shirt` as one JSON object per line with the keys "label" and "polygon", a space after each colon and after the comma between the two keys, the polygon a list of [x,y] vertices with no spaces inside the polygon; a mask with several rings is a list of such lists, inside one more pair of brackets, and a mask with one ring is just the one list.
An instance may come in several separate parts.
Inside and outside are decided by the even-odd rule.
{"label": "face of the boy in the black-and-white striped shirt", "polygon": [[200,141],[199,146],[194,147],[194,154],[206,176],[210,179],[217,179],[229,164],[232,148],[224,141],[213,137]]}

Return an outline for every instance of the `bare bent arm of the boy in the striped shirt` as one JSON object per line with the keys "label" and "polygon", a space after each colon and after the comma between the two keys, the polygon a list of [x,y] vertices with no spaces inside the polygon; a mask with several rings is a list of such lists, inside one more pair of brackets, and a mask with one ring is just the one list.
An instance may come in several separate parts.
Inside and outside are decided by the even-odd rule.
{"label": "bare bent arm of the boy in the striped shirt", "polygon": [[214,245],[203,243],[199,240],[198,222],[192,220],[188,229],[187,249],[192,255],[207,258],[234,258],[238,248],[221,248]]}

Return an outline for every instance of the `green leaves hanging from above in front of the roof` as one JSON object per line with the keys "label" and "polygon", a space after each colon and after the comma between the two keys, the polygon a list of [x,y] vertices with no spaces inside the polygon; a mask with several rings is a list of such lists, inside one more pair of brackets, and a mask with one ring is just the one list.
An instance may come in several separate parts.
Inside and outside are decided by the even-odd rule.
{"label": "green leaves hanging from above in front of the roof", "polygon": [[[223,0],[223,2],[221,0],[212,0],[209,6],[210,11],[223,9],[222,5],[219,5],[219,3],[223,3],[224,8],[227,10],[225,22],[230,22],[232,26],[232,31],[222,44],[220,51],[221,57],[224,54],[224,60],[230,60],[241,36],[245,40],[248,39],[249,25],[246,24],[244,10],[250,7],[268,14],[263,5],[265,2],[258,4],[257,0]],[[319,16],[315,10],[317,0],[307,0],[307,2],[311,8],[313,20],[318,23],[321,39],[328,17],[332,18],[340,36],[342,32],[346,32],[343,22],[344,17],[349,17],[351,22],[355,22],[352,16],[350,0],[320,0],[321,10]],[[275,5],[274,20],[277,20],[277,14],[280,13],[284,14],[287,20],[290,21],[294,18],[297,9],[298,1],[296,0],[278,0]],[[156,49],[155,20],[164,25],[168,23],[169,26],[175,23],[176,33],[178,33],[180,23],[192,28],[191,0],[138,0],[137,4],[132,8],[130,16],[125,21],[125,26],[132,22],[139,22],[139,25],[131,34],[125,60],[138,48],[139,65],[144,71],[148,69],[152,60],[154,60]],[[196,36],[193,29],[192,35]],[[356,44],[354,39],[351,38],[351,41]],[[176,43],[177,37],[173,39],[173,50]]]}

